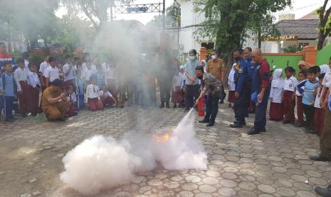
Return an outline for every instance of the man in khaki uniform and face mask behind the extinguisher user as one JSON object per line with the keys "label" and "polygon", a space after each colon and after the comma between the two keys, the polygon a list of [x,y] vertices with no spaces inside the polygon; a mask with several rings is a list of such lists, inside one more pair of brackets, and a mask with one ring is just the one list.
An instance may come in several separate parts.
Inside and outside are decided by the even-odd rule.
{"label": "man in khaki uniform and face mask behind the extinguisher user", "polygon": [[[211,60],[209,60],[207,63],[206,72],[216,76],[216,78],[222,81],[223,84],[225,74],[224,61],[223,59],[219,59],[218,51],[214,50],[211,53]],[[221,100],[220,103],[224,103],[224,97],[225,93],[221,92],[221,95],[219,97]]]}

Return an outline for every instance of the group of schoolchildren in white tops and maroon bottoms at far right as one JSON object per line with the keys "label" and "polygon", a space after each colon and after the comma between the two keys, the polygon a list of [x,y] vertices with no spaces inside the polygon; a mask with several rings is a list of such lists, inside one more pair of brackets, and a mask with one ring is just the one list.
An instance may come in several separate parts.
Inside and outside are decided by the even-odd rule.
{"label": "group of schoolchildren in white tops and maroon bottoms at far right", "polygon": [[[308,66],[304,61],[300,61],[299,65]],[[304,126],[308,133],[320,136],[325,118],[325,108],[322,104],[328,96],[330,68],[327,65],[310,68],[301,66],[301,68],[298,79],[295,77],[295,69],[291,66],[284,69],[285,79],[283,79],[283,69],[276,69],[273,72],[270,90],[270,121],[293,123],[296,127]],[[297,120],[295,120],[295,105]]]}

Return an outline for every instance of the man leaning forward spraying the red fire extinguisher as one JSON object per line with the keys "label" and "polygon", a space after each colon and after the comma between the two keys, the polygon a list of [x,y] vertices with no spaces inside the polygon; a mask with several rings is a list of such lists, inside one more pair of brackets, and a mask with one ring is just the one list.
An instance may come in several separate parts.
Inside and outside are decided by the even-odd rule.
{"label": "man leaning forward spraying the red fire extinguisher", "polygon": [[201,98],[204,98],[208,92],[208,102],[206,103],[206,115],[200,123],[208,123],[207,126],[214,126],[217,112],[219,111],[219,95],[221,91],[224,91],[222,82],[217,79],[216,76],[205,73],[204,66],[198,66],[196,68],[196,77],[201,81],[204,81],[204,89],[198,99],[196,99],[196,105]]}

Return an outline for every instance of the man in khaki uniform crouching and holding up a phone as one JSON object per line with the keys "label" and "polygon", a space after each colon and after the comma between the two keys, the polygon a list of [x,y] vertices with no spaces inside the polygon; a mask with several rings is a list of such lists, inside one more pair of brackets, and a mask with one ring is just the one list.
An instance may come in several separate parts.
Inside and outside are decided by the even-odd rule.
{"label": "man in khaki uniform crouching and holding up a phone", "polygon": [[61,90],[61,80],[54,79],[52,85],[43,91],[41,107],[48,121],[65,121],[65,112],[70,106],[66,94]]}

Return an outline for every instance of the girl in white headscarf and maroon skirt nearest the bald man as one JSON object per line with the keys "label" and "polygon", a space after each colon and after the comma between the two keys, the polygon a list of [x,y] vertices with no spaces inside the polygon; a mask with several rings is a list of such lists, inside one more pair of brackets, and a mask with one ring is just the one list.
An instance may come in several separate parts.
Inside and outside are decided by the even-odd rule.
{"label": "girl in white headscarf and maroon skirt nearest the bald man", "polygon": [[283,120],[283,69],[275,69],[273,72],[273,81],[271,81],[270,90],[270,121],[281,121]]}

